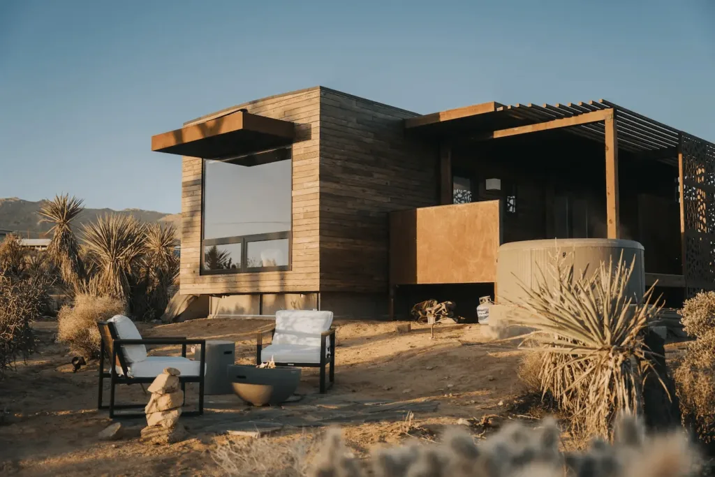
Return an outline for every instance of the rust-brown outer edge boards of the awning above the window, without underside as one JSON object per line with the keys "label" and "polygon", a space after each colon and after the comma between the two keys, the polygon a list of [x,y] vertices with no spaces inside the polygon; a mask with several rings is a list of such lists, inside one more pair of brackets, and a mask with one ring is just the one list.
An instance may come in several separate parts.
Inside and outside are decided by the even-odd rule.
{"label": "rust-brown outer edge boards of the awning above the window, without underside", "polygon": [[174,131],[156,134],[152,136],[152,151],[160,151],[179,144],[186,144],[187,142],[194,142],[227,132],[235,132],[239,129],[271,134],[287,139],[292,139],[295,134],[295,124],[292,122],[239,111],[206,122],[185,126],[181,129],[174,129]]}

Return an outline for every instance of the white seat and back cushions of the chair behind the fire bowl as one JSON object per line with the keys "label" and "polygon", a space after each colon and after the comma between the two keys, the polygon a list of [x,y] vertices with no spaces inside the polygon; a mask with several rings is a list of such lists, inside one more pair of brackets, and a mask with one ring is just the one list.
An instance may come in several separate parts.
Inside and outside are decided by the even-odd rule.
{"label": "white seat and back cushions of the chair behind the fire bowl", "polygon": [[330,325],[332,311],[278,310],[272,344],[320,348],[320,333],[330,330]]}

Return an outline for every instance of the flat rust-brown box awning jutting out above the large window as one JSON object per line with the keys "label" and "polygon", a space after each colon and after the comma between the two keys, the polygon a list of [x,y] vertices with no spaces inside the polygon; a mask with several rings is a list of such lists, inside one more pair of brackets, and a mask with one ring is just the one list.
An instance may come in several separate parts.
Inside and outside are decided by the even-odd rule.
{"label": "flat rust-brown box awning jutting out above the large window", "polygon": [[218,159],[285,146],[294,137],[294,123],[241,110],[152,136],[152,151]]}

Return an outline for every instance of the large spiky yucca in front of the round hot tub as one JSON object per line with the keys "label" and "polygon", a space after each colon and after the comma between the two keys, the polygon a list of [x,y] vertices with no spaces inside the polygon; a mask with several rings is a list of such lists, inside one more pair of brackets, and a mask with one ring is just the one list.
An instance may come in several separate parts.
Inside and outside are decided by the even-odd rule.
{"label": "large spiky yucca in front of the round hot tub", "polygon": [[543,353],[541,388],[577,435],[609,436],[617,413],[641,411],[646,373],[657,377],[644,332],[660,307],[650,303],[653,287],[640,301],[626,292],[634,263],[621,255],[616,265],[609,260],[593,274],[575,275],[557,259],[549,277],[541,272],[535,286],[523,285],[528,313],[520,321],[536,329],[540,345],[528,349]]}

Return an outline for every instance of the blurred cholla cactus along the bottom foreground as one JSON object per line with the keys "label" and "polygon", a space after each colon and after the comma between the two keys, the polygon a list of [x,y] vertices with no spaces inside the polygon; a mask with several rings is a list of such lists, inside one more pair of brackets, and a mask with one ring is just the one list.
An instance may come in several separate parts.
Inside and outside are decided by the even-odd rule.
{"label": "blurred cholla cactus along the bottom foreground", "polygon": [[538,428],[511,423],[477,445],[465,431],[450,431],[438,445],[381,449],[365,468],[347,457],[331,431],[311,477],[686,477],[696,459],[682,433],[649,438],[641,422],[621,416],[613,444],[596,438],[586,451],[561,453],[553,419]]}

